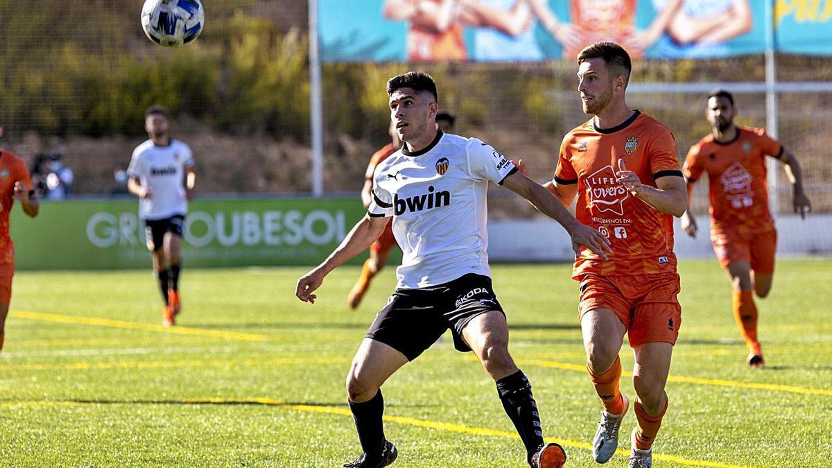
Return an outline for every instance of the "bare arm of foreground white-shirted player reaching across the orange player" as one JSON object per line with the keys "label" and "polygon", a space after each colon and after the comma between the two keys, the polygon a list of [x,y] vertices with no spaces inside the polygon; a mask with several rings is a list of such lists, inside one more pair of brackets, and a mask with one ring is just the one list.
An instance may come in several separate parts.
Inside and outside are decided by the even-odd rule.
{"label": "bare arm of foreground white-shirted player reaching across the orange player", "polygon": [[612,253],[610,241],[606,236],[592,229],[592,227],[578,222],[567,212],[566,207],[563,207],[562,203],[552,195],[552,192],[526,177],[526,174],[515,172],[509,175],[503,180],[503,187],[517,193],[532,203],[537,211],[559,222],[572,237],[572,250],[575,251],[576,256],[581,255],[581,246],[587,247],[604,260],[607,260],[607,252]]}

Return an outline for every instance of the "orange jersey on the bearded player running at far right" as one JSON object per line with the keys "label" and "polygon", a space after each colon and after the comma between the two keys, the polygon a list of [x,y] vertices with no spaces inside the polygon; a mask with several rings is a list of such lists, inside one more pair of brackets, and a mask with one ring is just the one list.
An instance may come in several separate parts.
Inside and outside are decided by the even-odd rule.
{"label": "orange jersey on the bearded player running at far right", "polygon": [[774,230],[765,156],[782,154],[783,146],[765,130],[740,126],[733,142],[716,142],[713,135],[708,135],[691,147],[685,159],[685,175],[692,182],[702,172],[708,174],[711,236]]}

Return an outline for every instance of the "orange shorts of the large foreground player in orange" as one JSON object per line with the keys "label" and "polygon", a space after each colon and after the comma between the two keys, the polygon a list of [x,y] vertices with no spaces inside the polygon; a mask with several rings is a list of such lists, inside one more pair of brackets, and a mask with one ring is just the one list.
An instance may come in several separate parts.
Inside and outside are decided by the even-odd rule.
{"label": "orange shorts of the large foreground player in orange", "polygon": [[579,316],[595,309],[608,309],[622,321],[630,346],[661,341],[676,344],[681,326],[679,275],[600,276],[577,278],[581,287]]}

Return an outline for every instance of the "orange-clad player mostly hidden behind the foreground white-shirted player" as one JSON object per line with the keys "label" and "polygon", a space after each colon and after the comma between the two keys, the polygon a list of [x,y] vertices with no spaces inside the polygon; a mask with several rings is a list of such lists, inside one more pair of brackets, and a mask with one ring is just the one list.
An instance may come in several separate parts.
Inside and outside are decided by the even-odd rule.
{"label": "orange-clad player mostly hidden behind the foreground white-shirted player", "polygon": [[[436,114],[436,128],[445,133],[452,132],[453,122],[455,120],[455,117],[448,112],[438,112]],[[373,174],[375,167],[402,147],[402,141],[399,140],[399,134],[396,133],[392,122],[390,123],[389,134],[393,141],[374,153],[367,165],[367,172],[364,173],[364,188],[361,189],[361,202],[364,203],[365,208],[369,207],[370,202],[373,201]],[[379,236],[379,239],[374,241],[373,245],[369,246],[369,258],[364,261],[359,281],[356,281],[352,291],[349,291],[347,303],[350,308],[354,309],[361,304],[361,300],[364,299],[364,294],[369,289],[370,281],[373,281],[373,277],[378,275],[379,271],[387,264],[387,257],[395,246],[399,246],[399,244],[396,243],[396,238],[393,236],[391,223],[387,223],[387,227],[384,228],[384,232]]]}

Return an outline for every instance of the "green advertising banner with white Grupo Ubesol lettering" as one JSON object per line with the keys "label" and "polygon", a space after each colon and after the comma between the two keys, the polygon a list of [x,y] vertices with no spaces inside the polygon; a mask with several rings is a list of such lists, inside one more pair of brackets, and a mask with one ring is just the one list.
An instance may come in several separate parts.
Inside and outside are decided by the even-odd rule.
{"label": "green advertising banner with white Grupo Ubesol lettering", "polygon": [[[136,200],[42,202],[35,219],[14,207],[15,266],[148,267],[137,212]],[[186,217],[182,257],[188,266],[315,265],[363,215],[358,197],[197,200]]]}

